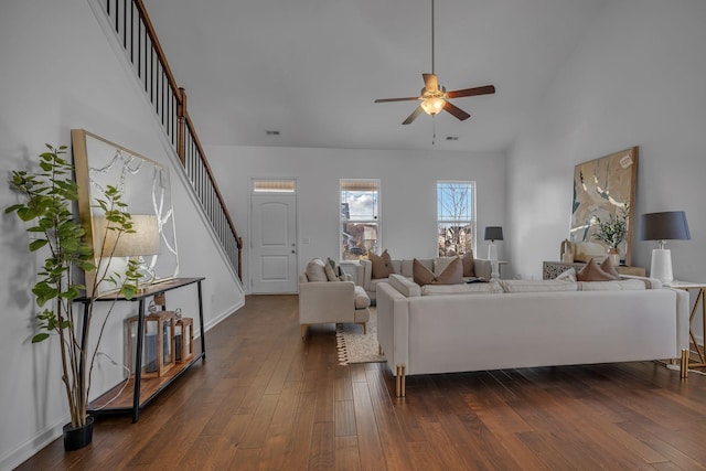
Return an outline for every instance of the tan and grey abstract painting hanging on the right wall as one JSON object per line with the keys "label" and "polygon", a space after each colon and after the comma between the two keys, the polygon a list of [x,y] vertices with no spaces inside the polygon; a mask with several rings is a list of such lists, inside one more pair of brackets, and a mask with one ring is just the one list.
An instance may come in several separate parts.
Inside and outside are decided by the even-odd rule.
{"label": "tan and grey abstract painting hanging on the right wall", "polygon": [[631,265],[637,179],[637,147],[576,165],[570,227],[575,251],[576,247],[585,247],[579,251],[597,255],[595,247],[598,247],[605,255],[608,246],[595,238],[596,222],[627,213],[628,234],[618,248],[620,259],[624,265]]}

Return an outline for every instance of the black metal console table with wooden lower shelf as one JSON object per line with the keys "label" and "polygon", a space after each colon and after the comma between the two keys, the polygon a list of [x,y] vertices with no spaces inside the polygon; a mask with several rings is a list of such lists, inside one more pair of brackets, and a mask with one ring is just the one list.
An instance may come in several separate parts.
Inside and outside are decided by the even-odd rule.
{"label": "black metal console table with wooden lower shelf", "polygon": [[[119,301],[130,301],[137,302],[137,352],[136,352],[136,365],[135,365],[135,375],[132,375],[128,379],[128,384],[125,385],[125,382],[120,382],[116,387],[111,388],[100,397],[94,399],[88,405],[87,413],[94,416],[104,415],[104,414],[132,414],[132,422],[136,422],[139,418],[140,409],[147,406],[152,399],[154,399],[164,388],[167,388],[170,384],[172,384],[178,377],[184,374],[191,366],[194,365],[199,360],[205,361],[206,358],[206,341],[205,334],[203,331],[203,296],[201,291],[201,281],[205,278],[172,278],[164,281],[158,281],[152,283],[145,289],[141,289],[140,292],[132,299],[125,299],[119,296],[119,293],[101,296],[100,298],[95,299],[95,301],[100,302],[119,302]],[[162,295],[165,291],[171,291],[173,289],[183,288],[190,285],[196,285],[196,292],[199,297],[199,329],[201,330],[201,352],[194,352],[191,361],[185,362],[183,364],[175,365],[170,368],[169,373],[160,376],[160,377],[151,377],[151,378],[142,378],[142,351],[145,343],[145,300],[153,297],[156,295]],[[90,299],[88,298],[79,298],[76,302],[82,302],[84,304],[84,325],[86,324],[85,319],[88,315],[88,306]],[[167,307],[162,304],[162,310],[165,310]],[[183,334],[183,333],[182,333]],[[85,349],[87,339],[85,334],[82,335],[82,347]],[[131,355],[132,352],[128,352],[128,355]],[[173,352],[172,352],[173,354]]]}

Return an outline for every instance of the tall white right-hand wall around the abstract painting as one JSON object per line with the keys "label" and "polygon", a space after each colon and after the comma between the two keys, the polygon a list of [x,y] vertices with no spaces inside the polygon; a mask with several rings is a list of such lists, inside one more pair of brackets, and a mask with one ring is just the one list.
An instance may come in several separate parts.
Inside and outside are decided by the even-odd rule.
{"label": "tall white right-hand wall around the abstract painting", "polygon": [[[692,240],[673,240],[676,278],[706,280],[706,2],[608,2],[507,160],[511,259],[542,276],[568,237],[574,167],[639,146],[640,214],[686,211]],[[635,229],[639,224],[635,224]],[[655,244],[633,236],[633,265]]]}

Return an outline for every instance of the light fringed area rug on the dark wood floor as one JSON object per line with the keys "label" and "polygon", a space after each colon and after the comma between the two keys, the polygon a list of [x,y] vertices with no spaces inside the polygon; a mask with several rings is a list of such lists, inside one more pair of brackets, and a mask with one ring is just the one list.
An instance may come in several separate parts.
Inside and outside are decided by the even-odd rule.
{"label": "light fringed area rug on the dark wood floor", "polygon": [[363,325],[336,324],[335,343],[339,351],[339,364],[351,365],[354,363],[379,363],[385,357],[379,354],[377,343],[377,313],[371,308],[371,320],[367,322],[367,332],[363,333]]}

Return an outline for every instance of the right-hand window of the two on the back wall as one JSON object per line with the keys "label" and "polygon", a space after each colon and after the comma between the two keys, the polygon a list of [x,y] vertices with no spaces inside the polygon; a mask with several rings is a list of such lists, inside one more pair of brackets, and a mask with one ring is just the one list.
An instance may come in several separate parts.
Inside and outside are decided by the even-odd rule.
{"label": "right-hand window of the two on the back wall", "polygon": [[437,182],[437,235],[439,256],[475,248],[474,182]]}

